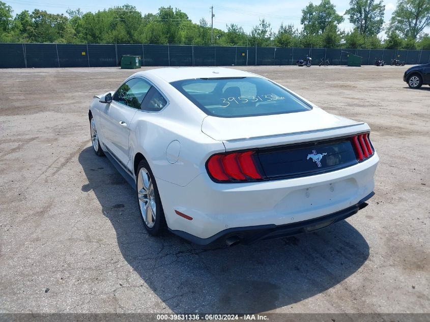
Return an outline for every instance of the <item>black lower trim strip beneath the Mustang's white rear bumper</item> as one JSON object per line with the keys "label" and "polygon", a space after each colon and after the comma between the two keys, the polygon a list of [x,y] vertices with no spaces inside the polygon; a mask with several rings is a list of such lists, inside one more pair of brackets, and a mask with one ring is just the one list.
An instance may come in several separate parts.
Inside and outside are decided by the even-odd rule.
{"label": "black lower trim strip beneath the Mustang's white rear bumper", "polygon": [[[300,221],[297,223],[286,225],[259,225],[249,227],[234,227],[222,230],[210,238],[198,238],[188,232],[181,230],[170,230],[176,235],[197,245],[209,245],[213,243],[230,244],[232,242],[241,242],[243,244],[252,244],[259,240],[269,240],[283,238],[299,233],[316,231],[321,228],[327,227],[335,222],[346,219],[356,214],[360,209],[367,206],[366,201],[375,195],[375,192],[369,193],[366,197],[361,199],[354,206],[347,209],[329,214],[326,216]],[[230,242],[228,242],[230,241]]]}

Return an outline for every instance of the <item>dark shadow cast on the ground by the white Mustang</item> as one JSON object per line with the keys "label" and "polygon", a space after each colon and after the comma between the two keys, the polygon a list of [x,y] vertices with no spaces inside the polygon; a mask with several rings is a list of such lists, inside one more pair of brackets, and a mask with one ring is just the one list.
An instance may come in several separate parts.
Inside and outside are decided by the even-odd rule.
{"label": "dark shadow cast on the ground by the white Mustang", "polygon": [[[231,248],[198,247],[170,232],[150,237],[135,191],[107,158],[89,147],[79,162],[88,178],[82,191],[94,191],[122,256],[175,313],[258,313],[288,306],[345,280],[369,256],[363,236],[346,221],[306,235]],[[137,289],[133,292],[145,311],[148,300]]]}

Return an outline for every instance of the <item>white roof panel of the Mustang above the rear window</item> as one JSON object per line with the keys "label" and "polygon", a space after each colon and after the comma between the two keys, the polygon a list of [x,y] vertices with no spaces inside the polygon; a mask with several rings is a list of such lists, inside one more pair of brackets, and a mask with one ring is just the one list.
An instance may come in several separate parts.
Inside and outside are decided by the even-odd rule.
{"label": "white roof panel of the Mustang above the rear window", "polygon": [[135,75],[155,76],[170,83],[183,79],[194,78],[218,78],[218,77],[258,77],[253,73],[244,72],[233,68],[223,67],[168,67],[156,68]]}

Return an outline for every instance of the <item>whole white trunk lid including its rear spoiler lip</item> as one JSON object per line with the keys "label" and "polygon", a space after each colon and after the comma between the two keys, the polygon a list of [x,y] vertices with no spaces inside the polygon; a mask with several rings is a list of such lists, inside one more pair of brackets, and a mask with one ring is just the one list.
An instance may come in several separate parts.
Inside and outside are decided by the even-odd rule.
{"label": "whole white trunk lid including its rear spoiler lip", "polygon": [[227,152],[318,142],[369,130],[363,122],[332,115],[318,107],[304,112],[247,118],[207,116],[202,123],[202,132],[222,141]]}

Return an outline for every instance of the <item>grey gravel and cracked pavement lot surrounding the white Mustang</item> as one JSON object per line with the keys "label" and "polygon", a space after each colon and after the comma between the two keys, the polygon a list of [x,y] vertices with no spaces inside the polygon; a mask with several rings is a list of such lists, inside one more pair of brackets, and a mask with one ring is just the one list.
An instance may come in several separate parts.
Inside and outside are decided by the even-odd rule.
{"label": "grey gravel and cracked pavement lot surrounding the white Mustang", "polygon": [[370,125],[369,206],[251,246],[150,237],[88,122],[136,70],[3,69],[0,312],[429,312],[430,87],[410,90],[408,66],[237,68]]}

